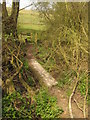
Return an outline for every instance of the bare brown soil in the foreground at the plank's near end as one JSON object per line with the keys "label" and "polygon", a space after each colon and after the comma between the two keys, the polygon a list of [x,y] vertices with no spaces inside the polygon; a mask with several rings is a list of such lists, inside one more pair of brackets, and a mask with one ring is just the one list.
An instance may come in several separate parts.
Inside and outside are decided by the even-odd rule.
{"label": "bare brown soil in the foreground at the plank's near end", "polygon": [[[69,98],[66,95],[66,91],[60,88],[52,87],[49,89],[51,95],[57,98],[57,104],[60,108],[64,110],[63,114],[61,115],[62,118],[70,118],[69,114]],[[78,96],[77,96],[78,98]],[[77,99],[76,99],[77,100]],[[77,107],[76,103],[72,101],[72,111],[74,118],[83,118],[83,112]]]}

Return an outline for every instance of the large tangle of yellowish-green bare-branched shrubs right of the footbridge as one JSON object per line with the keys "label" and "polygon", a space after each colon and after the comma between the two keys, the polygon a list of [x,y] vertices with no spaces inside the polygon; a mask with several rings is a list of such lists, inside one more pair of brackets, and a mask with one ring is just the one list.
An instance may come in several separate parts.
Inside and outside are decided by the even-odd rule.
{"label": "large tangle of yellowish-green bare-branched shrubs right of the footbridge", "polygon": [[[63,71],[65,67],[77,71],[78,65],[82,67],[88,59],[87,3],[58,2],[52,4],[52,7],[48,4],[38,5],[40,15],[47,26],[42,38],[42,47],[45,49],[47,46],[45,53],[49,55],[49,59],[46,60],[47,55],[41,52],[41,61],[45,63],[44,67],[50,66],[48,71],[54,73],[59,73],[60,69]],[[55,64],[52,64],[51,59]]]}

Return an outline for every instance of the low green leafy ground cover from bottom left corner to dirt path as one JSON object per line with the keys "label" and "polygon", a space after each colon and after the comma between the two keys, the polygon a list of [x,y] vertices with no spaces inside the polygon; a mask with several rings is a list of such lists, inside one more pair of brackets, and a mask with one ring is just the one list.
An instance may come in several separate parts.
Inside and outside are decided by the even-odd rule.
{"label": "low green leafy ground cover from bottom left corner to dirt path", "polygon": [[46,90],[40,90],[31,104],[31,98],[22,96],[19,92],[3,97],[3,118],[34,119],[34,117],[58,118],[63,110],[57,106],[55,97],[51,97]]}

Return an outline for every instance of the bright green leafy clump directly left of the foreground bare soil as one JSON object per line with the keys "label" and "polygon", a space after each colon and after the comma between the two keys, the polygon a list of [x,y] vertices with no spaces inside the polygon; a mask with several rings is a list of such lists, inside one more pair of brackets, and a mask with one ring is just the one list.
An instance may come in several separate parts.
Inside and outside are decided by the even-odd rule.
{"label": "bright green leafy clump directly left of the foreground bare soil", "polygon": [[51,97],[46,90],[40,90],[36,96],[36,114],[41,118],[58,118],[63,110],[57,106],[55,97]]}

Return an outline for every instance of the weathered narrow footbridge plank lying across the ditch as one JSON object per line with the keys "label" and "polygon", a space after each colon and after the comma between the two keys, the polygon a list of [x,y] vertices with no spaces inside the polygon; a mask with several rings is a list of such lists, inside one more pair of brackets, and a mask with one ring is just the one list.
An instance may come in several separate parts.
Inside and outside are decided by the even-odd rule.
{"label": "weathered narrow footbridge plank lying across the ditch", "polygon": [[29,66],[35,77],[46,86],[52,87],[57,84],[57,81],[34,58],[29,59]]}

